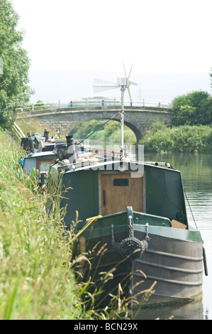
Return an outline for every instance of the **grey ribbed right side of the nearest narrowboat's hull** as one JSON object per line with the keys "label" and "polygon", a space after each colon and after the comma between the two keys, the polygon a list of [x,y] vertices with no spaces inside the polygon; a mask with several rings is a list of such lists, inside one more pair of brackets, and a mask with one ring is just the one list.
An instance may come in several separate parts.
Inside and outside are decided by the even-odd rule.
{"label": "grey ribbed right side of the nearest narrowboat's hull", "polygon": [[[137,231],[135,235],[138,239],[144,237],[143,232]],[[173,239],[152,233],[149,237],[148,248],[142,258],[133,262],[133,286],[143,279],[140,269],[147,276],[142,289],[149,289],[156,282],[155,293],[151,294],[145,304],[188,302],[200,298],[203,274],[201,242]],[[136,286],[133,295],[139,292],[139,286]],[[143,302],[142,295],[138,294],[137,299],[139,303]]]}

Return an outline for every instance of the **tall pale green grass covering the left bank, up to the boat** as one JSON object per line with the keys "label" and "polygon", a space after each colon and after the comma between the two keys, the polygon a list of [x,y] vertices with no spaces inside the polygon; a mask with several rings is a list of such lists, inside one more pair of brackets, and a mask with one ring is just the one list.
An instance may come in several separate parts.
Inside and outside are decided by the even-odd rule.
{"label": "tall pale green grass covering the left bank, up to the boat", "polygon": [[19,154],[0,131],[0,318],[82,317],[69,241],[46,214],[45,196],[27,187]]}

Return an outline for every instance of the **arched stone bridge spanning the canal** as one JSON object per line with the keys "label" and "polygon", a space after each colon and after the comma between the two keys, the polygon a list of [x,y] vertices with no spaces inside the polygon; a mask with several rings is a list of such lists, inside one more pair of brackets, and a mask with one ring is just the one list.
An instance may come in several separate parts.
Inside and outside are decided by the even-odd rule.
{"label": "arched stone bridge spanning the canal", "polygon": [[[69,134],[75,126],[91,119],[111,119],[120,122],[120,107],[69,107],[45,109],[33,112],[18,112],[16,119],[33,117],[45,127],[59,129],[62,134]],[[171,125],[172,109],[164,107],[125,107],[125,125],[135,133],[137,143],[150,129],[153,122]],[[30,129],[29,129],[30,131]]]}

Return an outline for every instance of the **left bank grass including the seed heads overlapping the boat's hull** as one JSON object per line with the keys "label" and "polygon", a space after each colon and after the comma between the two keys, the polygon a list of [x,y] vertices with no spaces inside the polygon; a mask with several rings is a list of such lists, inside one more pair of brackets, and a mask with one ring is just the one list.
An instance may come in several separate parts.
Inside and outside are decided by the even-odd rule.
{"label": "left bank grass including the seed heads overlapping the boat's hull", "polygon": [[[127,318],[130,301],[121,298],[121,284],[111,293],[111,302],[100,305],[104,284],[116,268],[99,276],[100,285],[80,274],[82,263],[91,269],[92,254],[73,257],[72,231],[62,228],[60,210],[47,214],[48,194],[23,174],[21,156],[20,146],[0,129],[0,319]],[[104,252],[100,248],[95,260]],[[152,289],[143,293],[145,298]]]}

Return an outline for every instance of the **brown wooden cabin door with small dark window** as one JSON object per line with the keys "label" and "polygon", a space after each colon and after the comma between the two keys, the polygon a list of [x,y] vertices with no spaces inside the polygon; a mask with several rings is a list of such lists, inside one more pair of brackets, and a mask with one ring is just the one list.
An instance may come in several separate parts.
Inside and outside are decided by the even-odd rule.
{"label": "brown wooden cabin door with small dark window", "polygon": [[100,173],[99,175],[99,213],[125,211],[132,206],[134,211],[145,210],[144,178],[132,178],[131,173]]}

